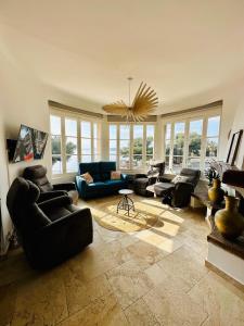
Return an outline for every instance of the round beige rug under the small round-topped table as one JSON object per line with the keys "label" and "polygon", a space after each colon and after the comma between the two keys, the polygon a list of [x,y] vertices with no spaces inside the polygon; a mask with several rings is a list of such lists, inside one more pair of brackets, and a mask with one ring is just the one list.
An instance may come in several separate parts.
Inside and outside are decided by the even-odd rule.
{"label": "round beige rug under the small round-topped table", "polygon": [[124,233],[140,231],[155,226],[158,222],[158,212],[141,202],[134,202],[134,212],[129,216],[124,210],[117,213],[115,202],[104,203],[98,209],[92,209],[92,216],[99,225],[110,229]]}

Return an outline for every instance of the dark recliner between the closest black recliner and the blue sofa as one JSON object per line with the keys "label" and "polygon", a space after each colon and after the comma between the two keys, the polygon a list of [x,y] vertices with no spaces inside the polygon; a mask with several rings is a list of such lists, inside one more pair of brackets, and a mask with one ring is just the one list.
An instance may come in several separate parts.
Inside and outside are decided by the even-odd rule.
{"label": "dark recliner between the closest black recliner and the blue sofa", "polygon": [[43,165],[26,167],[23,177],[33,181],[40,189],[39,202],[64,195],[68,195],[75,204],[78,202],[79,196],[75,183],[51,185],[47,178],[47,168]]}

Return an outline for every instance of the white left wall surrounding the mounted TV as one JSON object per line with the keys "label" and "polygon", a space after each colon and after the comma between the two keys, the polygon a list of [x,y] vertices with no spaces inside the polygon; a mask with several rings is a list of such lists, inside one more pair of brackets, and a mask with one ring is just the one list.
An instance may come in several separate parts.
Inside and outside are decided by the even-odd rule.
{"label": "white left wall surrounding the mounted TV", "polygon": [[[0,49],[2,50],[2,49]],[[3,248],[7,249],[7,237],[12,224],[5,206],[9,185],[20,175],[29,163],[9,164],[7,159],[5,139],[16,139],[20,125],[23,123],[37,129],[49,131],[49,109],[43,96],[42,87],[34,78],[29,78],[21,71],[8,52],[0,52],[0,185]],[[40,163],[50,164],[50,146]],[[36,162],[35,162],[36,163]],[[34,164],[34,163],[30,163]]]}

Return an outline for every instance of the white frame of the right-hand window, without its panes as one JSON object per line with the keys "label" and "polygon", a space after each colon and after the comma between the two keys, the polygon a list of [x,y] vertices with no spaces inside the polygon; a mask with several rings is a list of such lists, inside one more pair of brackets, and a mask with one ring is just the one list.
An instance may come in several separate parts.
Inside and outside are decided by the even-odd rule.
{"label": "white frame of the right-hand window, without its panes", "polygon": [[[175,139],[175,124],[177,122],[184,122],[184,148],[183,148],[183,162],[182,162],[182,167],[188,167],[188,158],[189,158],[189,127],[190,127],[190,122],[191,121],[198,121],[203,120],[203,128],[202,128],[202,145],[201,145],[201,156],[200,156],[200,170],[204,171],[205,168],[205,159],[206,159],[206,146],[207,146],[207,122],[208,118],[215,117],[215,116],[220,116],[220,123],[219,123],[219,135],[218,139],[220,139],[220,133],[221,133],[221,106],[218,106],[216,109],[208,109],[203,112],[196,111],[196,112],[191,112],[191,113],[185,113],[185,114],[174,114],[172,116],[169,117],[163,117],[162,118],[162,126],[163,126],[163,158],[165,160],[165,145],[166,145],[166,125],[170,124],[171,125],[171,135],[170,135],[170,152],[169,152],[169,166],[167,167],[166,172],[174,174],[174,139]],[[210,137],[211,138],[211,137]],[[218,160],[218,154],[219,154],[219,143],[218,141],[218,149],[217,149],[217,156],[215,159]],[[210,158],[209,158],[210,159]]]}

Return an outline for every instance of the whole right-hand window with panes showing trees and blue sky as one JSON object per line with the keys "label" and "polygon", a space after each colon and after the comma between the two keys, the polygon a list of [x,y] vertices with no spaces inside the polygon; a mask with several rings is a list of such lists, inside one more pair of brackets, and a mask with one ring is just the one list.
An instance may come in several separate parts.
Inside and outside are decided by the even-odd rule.
{"label": "whole right-hand window with panes showing trees and blue sky", "polygon": [[164,149],[168,171],[204,170],[218,158],[220,115],[172,120],[165,123]]}

